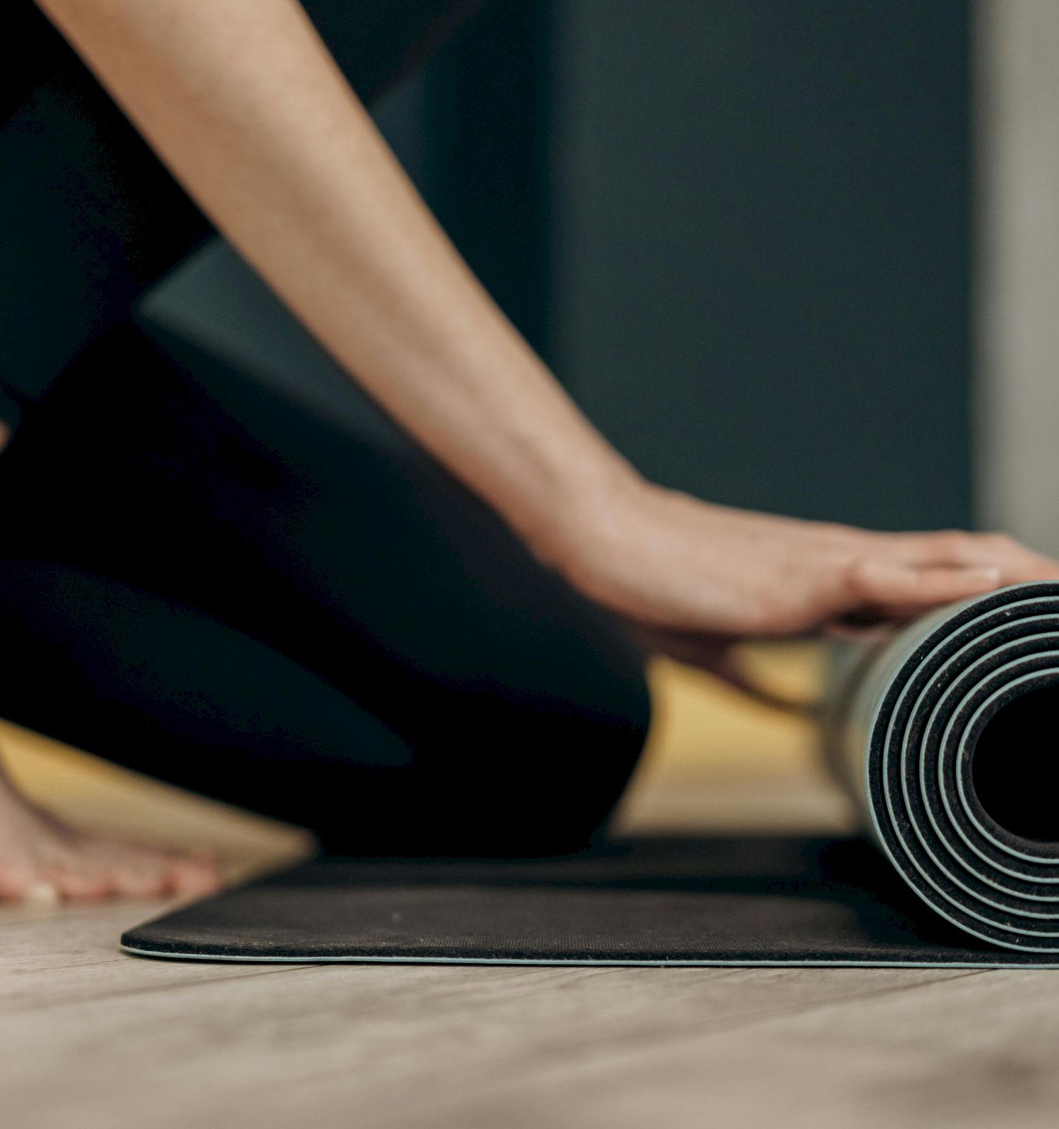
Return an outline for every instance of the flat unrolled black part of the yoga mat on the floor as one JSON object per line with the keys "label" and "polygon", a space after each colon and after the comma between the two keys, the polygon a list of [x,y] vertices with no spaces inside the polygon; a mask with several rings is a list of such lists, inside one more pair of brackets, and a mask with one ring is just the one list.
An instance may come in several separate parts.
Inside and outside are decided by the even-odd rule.
{"label": "flat unrolled black part of the yoga mat on the floor", "polygon": [[859,839],[638,838],[559,859],[320,859],[148,921],[230,961],[1059,966],[942,920]]}

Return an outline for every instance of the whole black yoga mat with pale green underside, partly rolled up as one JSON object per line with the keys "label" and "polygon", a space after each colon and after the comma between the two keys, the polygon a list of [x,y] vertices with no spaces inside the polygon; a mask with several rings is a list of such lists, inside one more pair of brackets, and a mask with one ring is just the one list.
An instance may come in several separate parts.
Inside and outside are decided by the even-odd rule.
{"label": "whole black yoga mat with pale green underside, partly rolled up", "polygon": [[[1059,968],[1059,584],[850,648],[823,709],[863,839],[318,859],[131,929],[149,956]],[[546,819],[546,813],[542,813]]]}

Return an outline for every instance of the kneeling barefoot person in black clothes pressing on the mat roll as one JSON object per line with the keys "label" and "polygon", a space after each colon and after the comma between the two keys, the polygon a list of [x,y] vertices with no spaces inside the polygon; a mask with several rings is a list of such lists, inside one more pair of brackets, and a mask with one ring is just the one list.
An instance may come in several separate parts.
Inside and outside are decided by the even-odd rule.
{"label": "kneeling barefoot person in black clothes pressing on the mat roll", "polygon": [[[642,746],[646,650],[736,679],[734,640],[1059,576],[1000,535],[711,505],[610,447],[365,110],[473,7],[7,16],[0,715],[327,850],[576,849]],[[231,410],[201,374],[237,371],[145,332],[137,298],[215,229],[422,456],[261,411],[245,380]],[[0,895],[217,882],[0,781]]]}

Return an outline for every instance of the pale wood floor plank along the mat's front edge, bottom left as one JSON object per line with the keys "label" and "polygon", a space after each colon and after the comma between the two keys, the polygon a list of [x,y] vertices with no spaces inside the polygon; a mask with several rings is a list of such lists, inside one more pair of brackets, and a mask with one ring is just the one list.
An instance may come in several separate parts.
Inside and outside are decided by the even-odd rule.
{"label": "pale wood floor plank along the mat's front edge, bottom left", "polygon": [[546,1094],[602,1068],[620,1083],[653,1049],[703,1032],[724,1042],[769,1017],[961,975],[326,965],[16,1014],[0,1061],[17,1067],[16,1108],[56,1127],[113,1129],[150,1110],[163,1129],[236,1112],[264,1129],[352,1108],[358,1124],[388,1124],[426,1115],[425,1101],[455,1126],[499,1082]]}

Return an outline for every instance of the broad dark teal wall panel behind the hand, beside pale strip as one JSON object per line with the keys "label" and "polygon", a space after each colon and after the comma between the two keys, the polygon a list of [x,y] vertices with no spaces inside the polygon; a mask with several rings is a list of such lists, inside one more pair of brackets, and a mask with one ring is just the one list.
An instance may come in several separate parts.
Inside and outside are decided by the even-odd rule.
{"label": "broad dark teal wall panel behind the hand, beside pale strip", "polygon": [[563,0],[560,367],[648,474],[969,519],[968,6]]}

